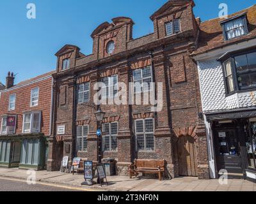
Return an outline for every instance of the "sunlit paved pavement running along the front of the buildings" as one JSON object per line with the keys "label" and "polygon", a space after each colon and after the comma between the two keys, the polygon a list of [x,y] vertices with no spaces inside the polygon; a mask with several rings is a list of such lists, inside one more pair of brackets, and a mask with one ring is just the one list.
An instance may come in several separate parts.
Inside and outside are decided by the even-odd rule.
{"label": "sunlit paved pavement running along the front of the buildings", "polygon": [[[26,170],[0,168],[0,177],[26,180]],[[0,178],[1,179],[1,178]],[[172,180],[159,181],[157,179],[143,179],[124,176],[108,177],[109,186],[106,184],[81,186],[84,182],[83,175],[36,171],[38,184],[49,184],[57,187],[63,186],[73,190],[84,191],[256,191],[256,184],[242,179],[228,179],[228,184],[220,185],[218,180],[198,180],[195,177],[180,177]],[[0,180],[1,186],[1,180]],[[0,189],[1,191],[1,189]]]}

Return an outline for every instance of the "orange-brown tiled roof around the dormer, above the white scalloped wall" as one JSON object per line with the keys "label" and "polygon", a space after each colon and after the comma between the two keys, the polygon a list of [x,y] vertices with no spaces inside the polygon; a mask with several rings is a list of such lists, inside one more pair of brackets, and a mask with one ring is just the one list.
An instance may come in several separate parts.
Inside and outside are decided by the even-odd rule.
{"label": "orange-brown tiled roof around the dormer, above the white scalloped wall", "polygon": [[223,38],[223,31],[220,25],[221,18],[214,18],[212,20],[207,20],[200,24],[200,36],[198,41],[198,48],[193,52],[192,55],[202,54],[209,50],[214,50],[216,48],[224,47],[232,43],[237,43],[239,41],[249,40],[251,38],[256,38],[256,4],[237,13],[229,15],[228,18],[239,15],[243,12],[247,12],[248,18],[248,30],[249,34],[242,36],[240,38],[235,38],[233,40],[225,41]]}

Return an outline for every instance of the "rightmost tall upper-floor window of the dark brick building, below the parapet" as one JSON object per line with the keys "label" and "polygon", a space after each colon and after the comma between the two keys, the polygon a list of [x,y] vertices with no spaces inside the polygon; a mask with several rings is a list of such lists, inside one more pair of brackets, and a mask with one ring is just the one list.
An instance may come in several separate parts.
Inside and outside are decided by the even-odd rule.
{"label": "rightmost tall upper-floor window of the dark brick building, below the parapet", "polygon": [[151,91],[152,82],[153,75],[151,66],[133,71],[134,93]]}

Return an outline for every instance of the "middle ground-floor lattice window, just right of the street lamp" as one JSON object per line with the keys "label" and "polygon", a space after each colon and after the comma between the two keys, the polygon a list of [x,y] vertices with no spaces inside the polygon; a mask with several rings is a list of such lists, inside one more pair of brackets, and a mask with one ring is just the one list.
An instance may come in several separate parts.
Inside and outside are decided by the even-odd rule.
{"label": "middle ground-floor lattice window, just right of the street lamp", "polygon": [[102,146],[103,151],[116,151],[117,150],[117,134],[118,122],[102,124]]}

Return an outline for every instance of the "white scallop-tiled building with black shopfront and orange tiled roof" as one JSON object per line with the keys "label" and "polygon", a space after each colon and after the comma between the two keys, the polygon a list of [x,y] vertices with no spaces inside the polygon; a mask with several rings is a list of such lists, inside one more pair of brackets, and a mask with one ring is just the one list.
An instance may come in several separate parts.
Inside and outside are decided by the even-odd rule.
{"label": "white scallop-tiled building with black shopfront and orange tiled roof", "polygon": [[[198,63],[212,178],[256,181],[256,5],[200,24]],[[207,41],[207,43],[205,43]]]}

